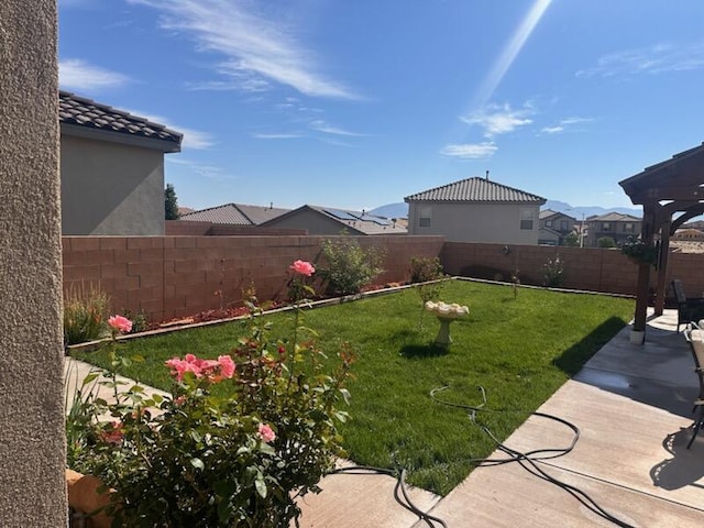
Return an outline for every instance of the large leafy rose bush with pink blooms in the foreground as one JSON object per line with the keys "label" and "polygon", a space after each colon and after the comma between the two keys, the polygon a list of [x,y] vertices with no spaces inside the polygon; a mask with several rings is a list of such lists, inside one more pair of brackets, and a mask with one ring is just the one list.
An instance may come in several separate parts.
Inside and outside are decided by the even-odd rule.
{"label": "large leafy rose bush with pink blooms in the foreground", "polygon": [[[349,397],[352,354],[343,348],[328,373],[312,340],[272,340],[251,308],[257,316],[230,354],[166,362],[168,396],[118,391],[112,369],[101,383],[116,387],[114,402],[86,400],[74,417],[82,433],[68,439],[68,464],[114,490],[113,526],[288,527],[300,515],[297,497],[318,492],[344,454],[337,426],[346,413],[338,407]],[[116,367],[123,361],[114,354]]]}

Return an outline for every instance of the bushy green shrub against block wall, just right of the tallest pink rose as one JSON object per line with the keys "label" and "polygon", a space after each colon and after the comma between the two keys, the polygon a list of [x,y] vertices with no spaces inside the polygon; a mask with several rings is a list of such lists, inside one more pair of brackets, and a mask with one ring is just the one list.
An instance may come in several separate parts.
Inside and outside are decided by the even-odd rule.
{"label": "bushy green shrub against block wall, just right of the tallest pink rose", "polygon": [[341,237],[322,242],[326,265],[319,268],[328,295],[359,294],[384,270],[384,251],[380,246],[363,249],[354,239]]}

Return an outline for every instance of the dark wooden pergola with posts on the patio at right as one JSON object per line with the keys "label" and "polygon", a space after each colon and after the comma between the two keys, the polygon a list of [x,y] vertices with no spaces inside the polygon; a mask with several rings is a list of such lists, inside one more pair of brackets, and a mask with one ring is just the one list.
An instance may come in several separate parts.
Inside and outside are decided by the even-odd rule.
{"label": "dark wooden pergola with posts on the patio at right", "polygon": [[[660,235],[656,315],[661,315],[664,308],[670,235],[684,222],[704,212],[704,143],[652,165],[618,185],[634,205],[642,206],[641,241],[656,245],[656,235]],[[680,215],[673,220],[675,213]],[[644,263],[638,266],[634,330],[646,329],[650,267]]]}

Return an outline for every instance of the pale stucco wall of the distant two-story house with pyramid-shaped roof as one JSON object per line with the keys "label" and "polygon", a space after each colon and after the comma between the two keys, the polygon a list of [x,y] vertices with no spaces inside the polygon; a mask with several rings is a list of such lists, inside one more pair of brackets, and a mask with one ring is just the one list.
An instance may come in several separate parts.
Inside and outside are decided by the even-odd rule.
{"label": "pale stucco wall of the distant two-story house with pyramid-shaped roof", "polygon": [[[422,210],[430,208],[430,227],[420,227]],[[526,204],[408,204],[409,234],[441,234],[450,242],[497,244],[538,243],[540,205]],[[522,211],[532,213],[532,230],[521,230]]]}

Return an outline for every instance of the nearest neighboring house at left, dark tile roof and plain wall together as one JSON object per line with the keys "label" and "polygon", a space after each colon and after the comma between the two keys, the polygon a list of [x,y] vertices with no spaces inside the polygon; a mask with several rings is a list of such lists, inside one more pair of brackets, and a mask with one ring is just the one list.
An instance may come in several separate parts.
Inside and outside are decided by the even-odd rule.
{"label": "nearest neighboring house at left, dark tile roof and plain wall together", "polygon": [[164,154],[183,135],[59,92],[63,234],[164,234]]}

